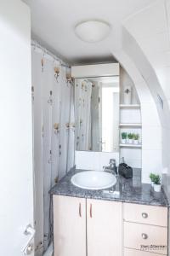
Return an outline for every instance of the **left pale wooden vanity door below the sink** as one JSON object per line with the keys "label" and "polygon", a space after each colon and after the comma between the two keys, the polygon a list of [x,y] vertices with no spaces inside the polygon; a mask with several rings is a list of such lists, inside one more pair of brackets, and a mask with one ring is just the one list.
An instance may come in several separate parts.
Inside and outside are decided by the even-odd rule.
{"label": "left pale wooden vanity door below the sink", "polygon": [[86,256],[86,200],[54,195],[54,256]]}

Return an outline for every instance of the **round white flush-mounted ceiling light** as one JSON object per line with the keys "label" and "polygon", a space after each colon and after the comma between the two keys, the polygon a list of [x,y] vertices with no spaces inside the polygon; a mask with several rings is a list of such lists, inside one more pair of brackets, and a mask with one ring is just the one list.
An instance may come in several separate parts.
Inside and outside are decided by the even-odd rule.
{"label": "round white flush-mounted ceiling light", "polygon": [[107,38],[111,32],[111,26],[105,21],[88,20],[77,24],[75,32],[82,41],[96,43]]}

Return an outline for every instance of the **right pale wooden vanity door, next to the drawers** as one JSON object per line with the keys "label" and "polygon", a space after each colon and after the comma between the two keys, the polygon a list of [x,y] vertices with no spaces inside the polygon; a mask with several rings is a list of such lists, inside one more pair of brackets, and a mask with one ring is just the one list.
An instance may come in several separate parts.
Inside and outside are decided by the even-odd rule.
{"label": "right pale wooden vanity door, next to the drawers", "polygon": [[122,203],[87,200],[88,256],[122,256]]}

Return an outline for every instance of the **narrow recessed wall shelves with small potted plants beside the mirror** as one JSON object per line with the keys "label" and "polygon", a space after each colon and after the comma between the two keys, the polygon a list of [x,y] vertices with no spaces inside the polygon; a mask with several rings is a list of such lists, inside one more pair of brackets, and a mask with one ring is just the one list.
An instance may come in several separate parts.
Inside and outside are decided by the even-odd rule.
{"label": "narrow recessed wall shelves with small potted plants beside the mirror", "polygon": [[[131,99],[129,101],[125,96],[125,91],[131,89]],[[142,113],[141,104],[139,102],[139,96],[135,89],[133,80],[128,76],[126,71],[121,68],[120,76],[120,102],[119,102],[119,152],[120,161],[124,157],[127,165],[133,168],[142,168]],[[128,143],[125,141],[122,143],[122,132],[127,134],[139,134],[139,143]]]}

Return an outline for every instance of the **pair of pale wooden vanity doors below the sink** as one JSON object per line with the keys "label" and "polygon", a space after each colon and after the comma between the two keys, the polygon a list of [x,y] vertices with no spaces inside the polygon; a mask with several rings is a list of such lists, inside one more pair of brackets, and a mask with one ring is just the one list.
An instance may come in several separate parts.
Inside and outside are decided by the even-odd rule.
{"label": "pair of pale wooden vanity doors below the sink", "polygon": [[122,202],[54,195],[54,256],[122,256]]}

